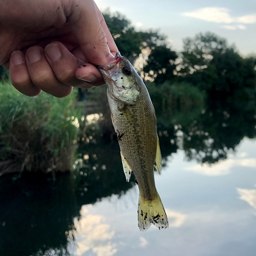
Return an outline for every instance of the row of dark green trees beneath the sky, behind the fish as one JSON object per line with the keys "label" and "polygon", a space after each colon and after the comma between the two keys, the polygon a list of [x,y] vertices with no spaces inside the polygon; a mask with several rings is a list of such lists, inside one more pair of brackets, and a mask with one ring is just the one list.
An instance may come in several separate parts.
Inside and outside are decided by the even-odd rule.
{"label": "row of dark green trees beneath the sky, behind the fish", "polygon": [[[234,96],[251,99],[256,96],[256,59],[243,58],[236,47],[214,33],[199,33],[183,40],[183,51],[175,52],[159,31],[136,31],[122,14],[103,13],[121,54],[134,63],[147,50],[143,67],[138,69],[144,80],[161,87],[186,82],[211,97]],[[159,88],[160,89],[160,88]]]}

